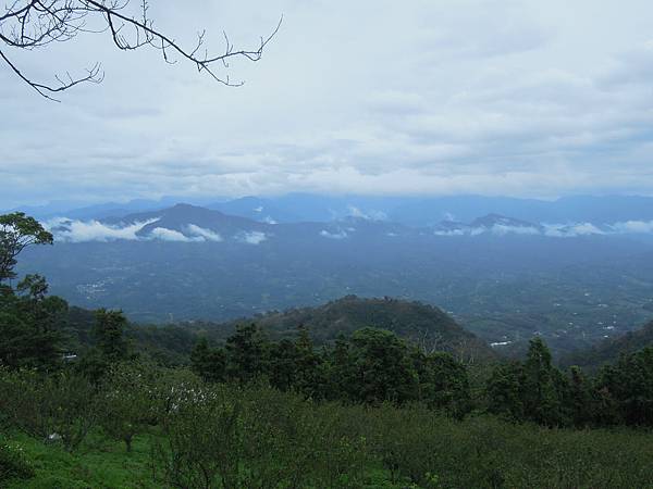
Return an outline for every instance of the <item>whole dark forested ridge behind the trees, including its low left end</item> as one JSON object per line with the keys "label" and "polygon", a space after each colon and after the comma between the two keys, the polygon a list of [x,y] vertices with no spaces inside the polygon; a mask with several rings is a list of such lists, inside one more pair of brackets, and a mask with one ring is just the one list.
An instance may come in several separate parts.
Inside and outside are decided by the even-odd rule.
{"label": "whole dark forested ridge behind the trees, including its low left end", "polygon": [[[71,308],[67,348],[82,352],[91,343],[94,314]],[[185,363],[199,337],[221,343],[239,324],[256,324],[272,340],[295,338],[306,326],[316,343],[324,344],[340,335],[349,336],[364,327],[387,329],[419,344],[426,351],[445,351],[466,361],[494,359],[493,350],[438,308],[397,299],[362,299],[347,296],[318,308],[292,309],[244,317],[229,323],[186,322],[165,326],[130,324],[126,336],[139,351],[171,363]]]}

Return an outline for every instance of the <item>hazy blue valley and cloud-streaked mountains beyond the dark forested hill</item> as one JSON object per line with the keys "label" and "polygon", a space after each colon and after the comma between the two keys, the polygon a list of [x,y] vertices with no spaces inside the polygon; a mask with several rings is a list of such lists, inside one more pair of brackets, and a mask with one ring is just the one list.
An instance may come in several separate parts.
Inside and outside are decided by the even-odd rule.
{"label": "hazy blue valley and cloud-streaked mountains beyond the dark forested hill", "polygon": [[[52,292],[74,304],[120,308],[135,321],[225,321],[350,293],[420,300],[454,313],[496,348],[541,334],[565,351],[653,318],[653,229],[551,228],[496,213],[439,221],[436,212],[438,224],[418,226],[372,218],[382,212],[380,198],[275,203],[294,198],[312,203],[304,215],[325,216],[338,202],[347,215],[271,224],[176,204],[60,220],[54,247],[25,252],[21,272],[42,273]],[[625,216],[614,212],[612,218]],[[632,215],[645,220],[641,212]]]}

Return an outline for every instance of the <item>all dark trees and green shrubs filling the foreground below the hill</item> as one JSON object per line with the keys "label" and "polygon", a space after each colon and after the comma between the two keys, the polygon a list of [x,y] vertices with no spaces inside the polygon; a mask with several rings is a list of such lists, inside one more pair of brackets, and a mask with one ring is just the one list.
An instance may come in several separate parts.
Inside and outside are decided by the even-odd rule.
{"label": "all dark trees and green shrubs filling the foreground below the hill", "polygon": [[[188,371],[133,354],[124,315],[99,310],[84,329],[90,347],[67,366],[60,358],[66,305],[47,289],[28,275],[0,291],[0,428],[12,437],[0,440],[0,482],[10,487],[32,475],[32,487],[188,489],[644,488],[653,480],[645,430],[653,348],[588,377],[556,368],[534,338],[523,361],[488,366],[479,389],[477,365],[424,338],[409,342],[366,325],[316,349],[304,325],[294,340],[271,341],[249,323],[224,346],[201,336]],[[367,302],[338,305],[360,321],[369,313],[369,324],[387,319],[384,306],[375,315]],[[15,439],[52,466],[24,457]],[[123,468],[136,452],[138,475],[111,486],[88,468],[60,469],[62,461],[94,464],[72,454],[81,446],[102,453],[114,441],[126,447]]]}

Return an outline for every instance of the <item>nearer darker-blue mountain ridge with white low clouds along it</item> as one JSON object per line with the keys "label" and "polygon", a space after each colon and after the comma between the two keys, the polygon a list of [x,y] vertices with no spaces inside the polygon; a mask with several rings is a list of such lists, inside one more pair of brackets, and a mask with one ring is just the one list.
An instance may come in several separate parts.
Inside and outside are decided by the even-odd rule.
{"label": "nearer darker-blue mountain ridge with white low clouds along it", "polygon": [[58,217],[46,225],[61,241],[152,240],[180,242],[236,241],[260,244],[268,240],[370,240],[477,237],[480,235],[523,235],[549,238],[578,236],[632,235],[653,237],[653,222],[627,221],[594,225],[591,223],[541,224],[512,216],[488,214],[469,223],[445,220],[432,226],[411,226],[358,213],[329,222],[278,223],[190,204],[115,215],[99,220]]}

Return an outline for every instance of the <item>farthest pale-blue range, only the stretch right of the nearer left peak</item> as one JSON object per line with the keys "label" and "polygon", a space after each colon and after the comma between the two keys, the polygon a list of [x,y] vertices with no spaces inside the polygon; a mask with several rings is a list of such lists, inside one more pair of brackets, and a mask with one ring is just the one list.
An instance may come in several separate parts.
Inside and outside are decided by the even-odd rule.
{"label": "farthest pale-blue range, only the stretch right of the nearer left peak", "polygon": [[579,196],[546,201],[481,196],[419,198],[291,193],[272,198],[246,197],[207,206],[256,221],[279,223],[328,222],[355,215],[429,226],[442,221],[471,222],[489,214],[533,223],[653,221],[653,198],[628,196]]}

